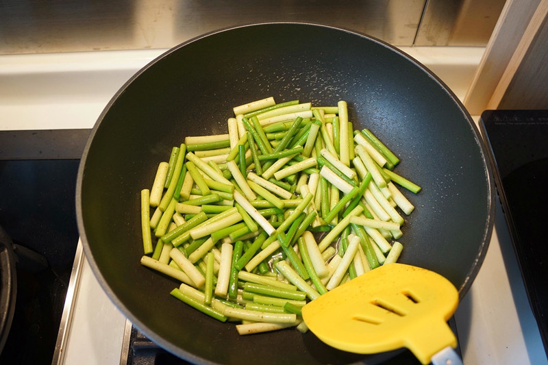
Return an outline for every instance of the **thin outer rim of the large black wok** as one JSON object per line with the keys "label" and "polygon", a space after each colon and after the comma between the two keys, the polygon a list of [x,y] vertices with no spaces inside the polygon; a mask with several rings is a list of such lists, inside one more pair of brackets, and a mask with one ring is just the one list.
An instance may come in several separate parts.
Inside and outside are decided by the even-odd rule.
{"label": "thin outer rim of the large black wok", "polygon": [[183,47],[186,47],[187,45],[190,45],[193,42],[197,42],[203,38],[208,38],[209,36],[213,36],[214,34],[219,34],[223,32],[231,32],[236,29],[242,29],[242,28],[248,28],[248,27],[262,27],[265,25],[304,25],[304,26],[310,26],[310,27],[327,28],[337,32],[345,32],[347,34],[351,34],[353,36],[358,36],[360,38],[365,38],[366,40],[369,40],[371,42],[375,42],[378,45],[385,47],[386,49],[393,51],[394,53],[397,53],[397,55],[405,58],[406,60],[408,60],[408,62],[411,62],[416,67],[420,68],[430,78],[436,81],[436,83],[443,89],[443,91],[447,92],[449,97],[451,97],[452,101],[456,103],[456,105],[458,106],[458,109],[460,110],[460,112],[462,112],[464,118],[468,122],[468,127],[472,129],[475,144],[477,144],[477,146],[479,147],[479,152],[481,153],[481,160],[483,162],[485,176],[486,176],[486,190],[487,190],[487,204],[488,204],[486,225],[484,227],[482,243],[479,245],[479,250],[477,251],[477,255],[475,257],[475,261],[473,262],[473,265],[469,269],[468,273],[466,273],[466,279],[464,280],[462,285],[459,288],[457,288],[458,294],[459,294],[459,302],[462,301],[464,295],[466,294],[466,292],[468,292],[471,285],[473,284],[473,281],[475,277],[477,276],[477,273],[479,273],[479,269],[481,268],[482,263],[484,262],[484,259],[486,257],[486,253],[488,251],[488,245],[490,243],[490,238],[493,233],[493,227],[495,223],[495,183],[494,183],[492,166],[490,166],[490,163],[488,161],[488,154],[487,154],[487,149],[485,145],[486,142],[484,138],[482,137],[482,134],[480,134],[477,125],[473,121],[473,118],[471,117],[469,112],[466,110],[466,108],[464,107],[460,99],[458,99],[458,97],[455,95],[455,93],[436,74],[430,71],[429,68],[421,64],[421,62],[419,62],[418,60],[414,59],[411,55],[408,55],[408,53],[401,51],[397,47],[390,45],[388,42],[380,40],[379,38],[376,38],[374,36],[369,36],[368,34],[364,34],[362,32],[358,32],[353,29],[348,29],[345,27],[338,27],[333,25],[325,25],[322,23],[311,23],[311,22],[271,21],[271,22],[264,22],[264,23],[248,23],[248,24],[242,24],[242,25],[222,27],[222,28],[213,30],[211,32],[206,32],[194,38],[190,38],[189,40],[186,40],[185,42],[182,42],[179,45],[175,45],[171,49],[164,51],[162,54],[158,55],[156,58],[151,60],[145,66],[140,68],[140,70],[134,73],[134,75],[132,75],[132,77],[130,77],[123,84],[123,86],[121,86],[121,88],[119,88],[119,90],[116,91],[116,93],[112,96],[110,101],[108,101],[108,103],[105,105],[105,108],[103,108],[101,114],[99,114],[97,121],[95,122],[95,125],[92,127],[90,131],[90,135],[88,137],[86,146],[84,147],[84,151],[82,153],[82,159],[80,160],[80,164],[77,172],[75,203],[76,203],[77,226],[79,229],[80,238],[82,240],[84,254],[86,255],[86,258],[88,259],[88,263],[90,264],[90,267],[92,268],[92,273],[95,275],[101,288],[103,288],[103,290],[107,294],[107,297],[110,299],[110,301],[112,301],[112,303],[116,306],[116,308],[118,308],[118,310],[120,310],[120,312],[132,322],[132,324],[135,327],[137,327],[138,329],[142,329],[142,331],[145,332],[145,334],[149,336],[151,340],[159,344],[160,347],[192,363],[217,364],[216,362],[210,362],[209,360],[203,359],[202,357],[198,357],[197,355],[194,355],[193,353],[190,353],[184,350],[182,347],[178,347],[177,345],[169,342],[168,340],[164,340],[162,336],[159,336],[158,333],[155,333],[155,331],[151,330],[145,323],[143,323],[141,320],[136,318],[136,316],[134,316],[134,314],[132,314],[132,312],[126,307],[126,305],[119,299],[119,297],[116,295],[114,290],[110,288],[108,281],[103,276],[103,273],[101,273],[101,270],[99,270],[99,266],[97,262],[95,261],[95,257],[92,254],[90,243],[88,242],[88,238],[86,236],[86,230],[84,228],[84,218],[82,215],[82,181],[84,179],[84,169],[86,166],[86,160],[88,157],[90,147],[92,145],[93,140],[95,139],[97,130],[101,126],[101,123],[103,122],[106,114],[108,114],[112,105],[114,105],[114,103],[116,103],[116,101],[123,95],[123,93],[129,87],[129,85],[132,84],[134,80],[138,79],[138,77],[140,77],[142,73],[145,73],[147,70],[149,70],[149,68],[151,68],[151,66],[160,62],[162,59],[166,58],[172,53],[175,53],[179,49],[182,49]]}

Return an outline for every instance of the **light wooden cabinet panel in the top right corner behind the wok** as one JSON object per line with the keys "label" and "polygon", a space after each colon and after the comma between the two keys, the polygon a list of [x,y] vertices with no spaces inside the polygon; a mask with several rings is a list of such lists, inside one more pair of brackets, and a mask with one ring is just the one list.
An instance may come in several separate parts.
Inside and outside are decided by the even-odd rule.
{"label": "light wooden cabinet panel in the top right corner behind the wok", "polygon": [[548,109],[548,0],[506,2],[464,105]]}

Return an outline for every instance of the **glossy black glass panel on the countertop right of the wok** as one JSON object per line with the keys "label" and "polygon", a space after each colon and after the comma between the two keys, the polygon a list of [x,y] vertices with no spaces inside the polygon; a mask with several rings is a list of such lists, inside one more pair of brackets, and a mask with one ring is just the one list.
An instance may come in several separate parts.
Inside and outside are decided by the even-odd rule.
{"label": "glossy black glass panel on the countertop right of the wok", "polygon": [[480,127],[527,297],[548,352],[548,110],[486,110]]}

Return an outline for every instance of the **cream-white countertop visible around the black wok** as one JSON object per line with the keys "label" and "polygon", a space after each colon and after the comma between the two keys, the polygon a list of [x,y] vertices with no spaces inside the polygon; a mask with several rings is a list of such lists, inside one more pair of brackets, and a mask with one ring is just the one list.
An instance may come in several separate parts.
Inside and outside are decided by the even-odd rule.
{"label": "cream-white countertop visible around the black wok", "polygon": [[[462,100],[484,49],[402,48]],[[0,56],[0,130],[91,128],[114,92],[163,49]],[[474,116],[477,122],[478,116]],[[497,199],[484,264],[455,314],[465,364],[548,364],[532,316],[508,227]],[[112,321],[125,318],[102,292],[84,260],[79,295],[100,298]],[[123,336],[93,336],[97,318],[75,307],[66,364],[118,364]],[[86,346],[73,337],[86,336]],[[87,359],[84,361],[84,359]]]}

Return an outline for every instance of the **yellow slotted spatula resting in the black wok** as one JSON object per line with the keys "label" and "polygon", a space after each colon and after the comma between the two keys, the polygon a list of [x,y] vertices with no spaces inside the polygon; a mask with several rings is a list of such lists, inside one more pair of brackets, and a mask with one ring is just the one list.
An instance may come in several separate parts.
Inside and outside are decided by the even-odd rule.
{"label": "yellow slotted spatula resting in the black wok", "polygon": [[462,364],[447,325],[457,305],[458,291],[445,277],[394,263],[323,294],[302,314],[310,331],[336,349],[379,353],[407,347],[423,364]]}

